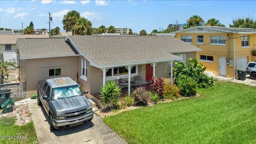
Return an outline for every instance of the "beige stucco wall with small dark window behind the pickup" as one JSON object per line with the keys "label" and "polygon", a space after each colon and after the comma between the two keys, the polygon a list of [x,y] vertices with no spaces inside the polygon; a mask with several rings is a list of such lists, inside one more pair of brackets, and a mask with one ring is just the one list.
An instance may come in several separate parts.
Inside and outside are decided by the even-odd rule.
{"label": "beige stucco wall with small dark window behind the pickup", "polygon": [[[37,81],[55,77],[70,77],[75,80],[78,70],[79,57],[61,57],[45,59],[21,60],[20,80],[26,81],[27,97],[35,93]],[[61,68],[60,76],[49,77],[49,69]]]}

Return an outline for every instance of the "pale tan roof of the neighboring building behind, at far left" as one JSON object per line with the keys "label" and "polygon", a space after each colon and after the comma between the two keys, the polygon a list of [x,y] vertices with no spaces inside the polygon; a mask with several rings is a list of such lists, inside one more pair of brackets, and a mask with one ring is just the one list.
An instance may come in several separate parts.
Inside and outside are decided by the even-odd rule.
{"label": "pale tan roof of the neighboring building behind, at far left", "polygon": [[0,35],[0,44],[15,44],[17,38],[47,38],[49,35]]}

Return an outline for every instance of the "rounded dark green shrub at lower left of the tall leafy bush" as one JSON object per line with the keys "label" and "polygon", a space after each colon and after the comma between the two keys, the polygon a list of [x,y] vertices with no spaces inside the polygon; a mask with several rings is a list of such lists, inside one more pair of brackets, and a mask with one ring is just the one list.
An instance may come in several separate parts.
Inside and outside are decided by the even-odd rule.
{"label": "rounded dark green shrub at lower left of the tall leafy bush", "polygon": [[195,96],[197,82],[194,78],[187,75],[180,76],[177,85],[180,87],[180,94],[184,96]]}

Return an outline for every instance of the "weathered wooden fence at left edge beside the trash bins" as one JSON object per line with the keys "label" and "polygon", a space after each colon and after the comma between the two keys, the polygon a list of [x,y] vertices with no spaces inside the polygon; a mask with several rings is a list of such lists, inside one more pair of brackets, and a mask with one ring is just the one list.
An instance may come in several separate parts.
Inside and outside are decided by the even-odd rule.
{"label": "weathered wooden fence at left edge beside the trash bins", "polygon": [[22,83],[10,83],[10,84],[1,84],[1,90],[9,89],[11,90],[11,98],[15,100],[20,100],[26,98],[26,82]]}

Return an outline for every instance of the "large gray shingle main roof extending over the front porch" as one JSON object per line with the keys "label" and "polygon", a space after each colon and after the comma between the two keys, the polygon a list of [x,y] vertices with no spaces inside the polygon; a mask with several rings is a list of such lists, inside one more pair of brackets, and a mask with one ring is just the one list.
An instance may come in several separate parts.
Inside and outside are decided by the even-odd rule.
{"label": "large gray shingle main roof extending over the front porch", "polygon": [[175,52],[201,51],[172,36],[68,36],[98,67],[179,59]]}

